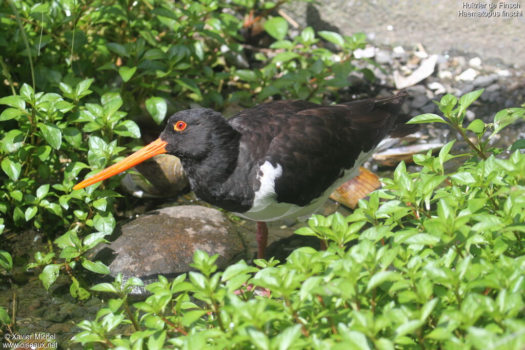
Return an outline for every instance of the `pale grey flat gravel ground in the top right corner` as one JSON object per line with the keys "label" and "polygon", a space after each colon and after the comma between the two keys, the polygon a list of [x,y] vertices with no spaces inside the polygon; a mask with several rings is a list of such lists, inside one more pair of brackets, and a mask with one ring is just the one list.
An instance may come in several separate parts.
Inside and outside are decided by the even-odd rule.
{"label": "pale grey flat gravel ground in the top right corner", "polygon": [[[485,8],[463,8],[464,3]],[[490,9],[491,3],[497,7]],[[310,25],[344,35],[362,31],[376,39],[377,45],[411,47],[421,43],[437,54],[456,50],[467,56],[479,55],[492,63],[523,67],[525,2],[501,3],[518,4],[519,8],[498,8],[500,2],[487,0],[318,0],[317,5],[294,1],[283,10],[301,27]],[[460,11],[485,16],[459,16]],[[521,11],[521,17],[507,15],[516,11]],[[499,16],[487,17],[488,13]]]}

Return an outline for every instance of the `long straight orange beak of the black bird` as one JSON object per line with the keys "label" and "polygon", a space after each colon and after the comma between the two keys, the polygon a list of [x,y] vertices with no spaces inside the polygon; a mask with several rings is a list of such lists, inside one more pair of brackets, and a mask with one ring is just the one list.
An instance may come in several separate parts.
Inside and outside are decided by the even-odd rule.
{"label": "long straight orange beak of the black bird", "polygon": [[137,152],[132,155],[125,157],[118,163],[111,165],[110,167],[104,169],[100,173],[91,176],[90,178],[85,179],[84,181],[73,186],[73,189],[80,189],[87,187],[92,184],[96,184],[99,181],[107,179],[118,173],[122,173],[124,170],[131,168],[139,163],[144,162],[146,159],[151,158],[155,155],[166,153],[164,148],[167,145],[167,142],[162,141],[161,139],[156,139],[147,146],[142,147]]}

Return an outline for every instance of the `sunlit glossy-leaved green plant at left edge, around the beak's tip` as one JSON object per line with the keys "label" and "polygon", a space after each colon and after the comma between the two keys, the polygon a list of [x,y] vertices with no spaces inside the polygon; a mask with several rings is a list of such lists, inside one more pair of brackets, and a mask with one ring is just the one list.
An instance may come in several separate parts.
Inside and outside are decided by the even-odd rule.
{"label": "sunlit glossy-leaved green plant at left edge, around the beak's tip", "polygon": [[[0,185],[0,211],[16,226],[30,223],[45,231],[67,231],[55,241],[62,249],[59,258],[64,258],[64,263],[49,264],[55,254],[38,252],[37,262],[27,266],[49,264],[40,275],[46,288],[62,268],[71,275],[72,288],[81,291],[70,273],[80,260],[88,270],[109,273],[100,262],[93,263],[82,254],[103,241],[115,226],[113,199],[121,195],[112,188],[118,181],[88,190],[71,188],[82,169],[96,172],[113,162],[125,148],[117,146],[122,137],[140,136],[137,124],[119,111],[122,99],[118,93],[104,94],[101,104],[81,103],[92,92],[91,82],[81,80],[75,88],[61,82],[64,96],[35,93],[24,84],[20,95],[0,99],[0,104],[8,106],[0,120],[14,126],[4,134],[0,148],[2,169],[7,175]],[[89,133],[89,138],[83,132]],[[77,234],[93,228],[98,232],[81,243]]]}

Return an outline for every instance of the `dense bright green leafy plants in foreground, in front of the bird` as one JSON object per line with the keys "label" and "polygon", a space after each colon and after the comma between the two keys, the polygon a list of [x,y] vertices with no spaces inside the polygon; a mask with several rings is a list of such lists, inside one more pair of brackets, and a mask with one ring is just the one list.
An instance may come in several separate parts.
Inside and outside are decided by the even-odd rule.
{"label": "dense bright green leafy plants in foreground, in front of the bird", "polygon": [[[503,150],[482,146],[491,134],[463,127],[461,114],[479,94],[462,97],[458,108],[449,96],[439,106],[448,111],[441,120],[460,135],[476,133],[480,146],[453,156],[449,143],[437,156],[414,156],[420,171],[401,163],[352,215],[313,216],[297,233],[319,237],[327,250],[299,248],[283,263],[240,261],[223,272],[217,256],[198,251],[198,272],[159,276],[134,312],[122,306],[120,277],[96,285],[117,299],[81,322],[74,341],[150,349],[523,348],[523,141],[509,147],[516,150],[508,159],[497,158]],[[483,129],[499,132],[502,115],[524,112],[500,112]],[[466,162],[448,171],[446,162],[459,156]]]}

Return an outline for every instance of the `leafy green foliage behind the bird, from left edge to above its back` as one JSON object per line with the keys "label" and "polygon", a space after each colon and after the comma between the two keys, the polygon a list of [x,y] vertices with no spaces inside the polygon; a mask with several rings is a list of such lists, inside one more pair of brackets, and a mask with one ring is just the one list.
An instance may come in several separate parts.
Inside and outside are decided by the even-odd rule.
{"label": "leafy green foliage behind the bird, from left edge to above its back", "polygon": [[[108,273],[85,252],[116,224],[119,178],[86,190],[72,186],[133,148],[138,123],[161,124],[190,107],[220,110],[270,97],[319,101],[348,84],[356,69],[352,50],[363,47],[364,36],[319,33],[337,41],[338,54],[323,48],[312,28],[291,38],[286,20],[269,15],[282,3],[0,4],[0,215],[9,229],[32,226],[54,240],[54,250],[37,252],[26,265],[43,268],[46,288],[65,272],[71,294],[84,299],[89,293],[78,266]],[[260,23],[269,17],[264,27],[278,40],[268,51],[243,43],[243,17],[254,10]],[[264,68],[248,69],[248,50]],[[0,252],[0,264],[12,270],[9,253]]]}

